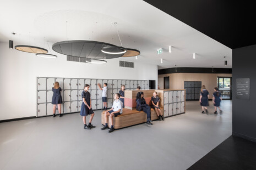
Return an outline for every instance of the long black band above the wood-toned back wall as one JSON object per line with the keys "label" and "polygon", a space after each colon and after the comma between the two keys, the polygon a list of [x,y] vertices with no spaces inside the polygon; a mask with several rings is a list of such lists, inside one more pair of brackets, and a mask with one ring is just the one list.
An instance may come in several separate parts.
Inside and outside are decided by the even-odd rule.
{"label": "long black band above the wood-toned back wall", "polygon": [[226,73],[226,74],[231,74],[232,69],[203,68],[203,67],[177,67],[177,68],[158,70],[158,75],[164,75],[164,74],[170,74],[170,73]]}

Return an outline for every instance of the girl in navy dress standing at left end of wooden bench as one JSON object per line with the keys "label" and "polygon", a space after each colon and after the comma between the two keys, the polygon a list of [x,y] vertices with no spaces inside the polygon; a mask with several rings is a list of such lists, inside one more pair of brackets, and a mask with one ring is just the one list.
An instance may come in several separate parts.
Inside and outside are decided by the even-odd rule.
{"label": "girl in navy dress standing at left end of wooden bench", "polygon": [[[80,115],[83,116],[84,129],[95,128],[95,126],[91,124],[92,118],[94,117],[94,111],[91,109],[91,97],[90,97],[90,92],[88,92],[89,88],[90,88],[90,85],[85,84],[84,90],[81,94],[83,103],[81,105]],[[91,115],[91,116],[90,116],[89,124],[87,125],[86,116],[88,115]]]}

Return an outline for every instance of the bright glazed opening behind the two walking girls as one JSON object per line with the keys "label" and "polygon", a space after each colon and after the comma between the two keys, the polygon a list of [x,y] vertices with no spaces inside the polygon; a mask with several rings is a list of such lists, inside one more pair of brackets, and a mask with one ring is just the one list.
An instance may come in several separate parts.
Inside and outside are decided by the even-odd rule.
{"label": "bright glazed opening behind the two walking girls", "polygon": [[232,99],[232,77],[218,77],[218,87],[222,99]]}

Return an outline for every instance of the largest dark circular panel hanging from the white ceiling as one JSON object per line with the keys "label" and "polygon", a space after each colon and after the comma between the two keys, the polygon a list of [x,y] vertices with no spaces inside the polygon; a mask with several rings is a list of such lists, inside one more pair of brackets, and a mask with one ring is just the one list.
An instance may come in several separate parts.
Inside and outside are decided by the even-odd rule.
{"label": "largest dark circular panel hanging from the white ceiling", "polygon": [[[84,41],[84,40],[74,40],[74,41],[62,41],[57,42],[52,45],[52,49],[55,52],[64,54],[77,56],[80,58],[88,58],[88,59],[113,59],[118,58],[123,55],[121,54],[107,54],[101,51],[101,49],[107,48],[108,52],[119,52],[124,51],[125,48],[117,47],[113,44],[108,44],[104,42],[97,41]],[[111,50],[110,50],[111,49]],[[126,49],[125,49],[126,50]]]}

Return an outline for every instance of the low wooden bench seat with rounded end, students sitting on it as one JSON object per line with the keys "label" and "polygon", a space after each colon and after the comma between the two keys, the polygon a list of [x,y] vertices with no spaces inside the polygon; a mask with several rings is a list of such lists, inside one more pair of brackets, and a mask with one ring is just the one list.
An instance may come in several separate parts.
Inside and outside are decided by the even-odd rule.
{"label": "low wooden bench seat with rounded end, students sitting on it", "polygon": [[[161,112],[164,113],[164,109],[161,108]],[[151,108],[151,120],[157,120],[158,118],[155,109]],[[114,128],[119,129],[144,122],[146,122],[146,114],[144,111],[123,108],[123,114],[114,117]],[[105,125],[105,111],[101,113],[101,124]],[[110,121],[108,121],[108,126],[111,126]]]}

